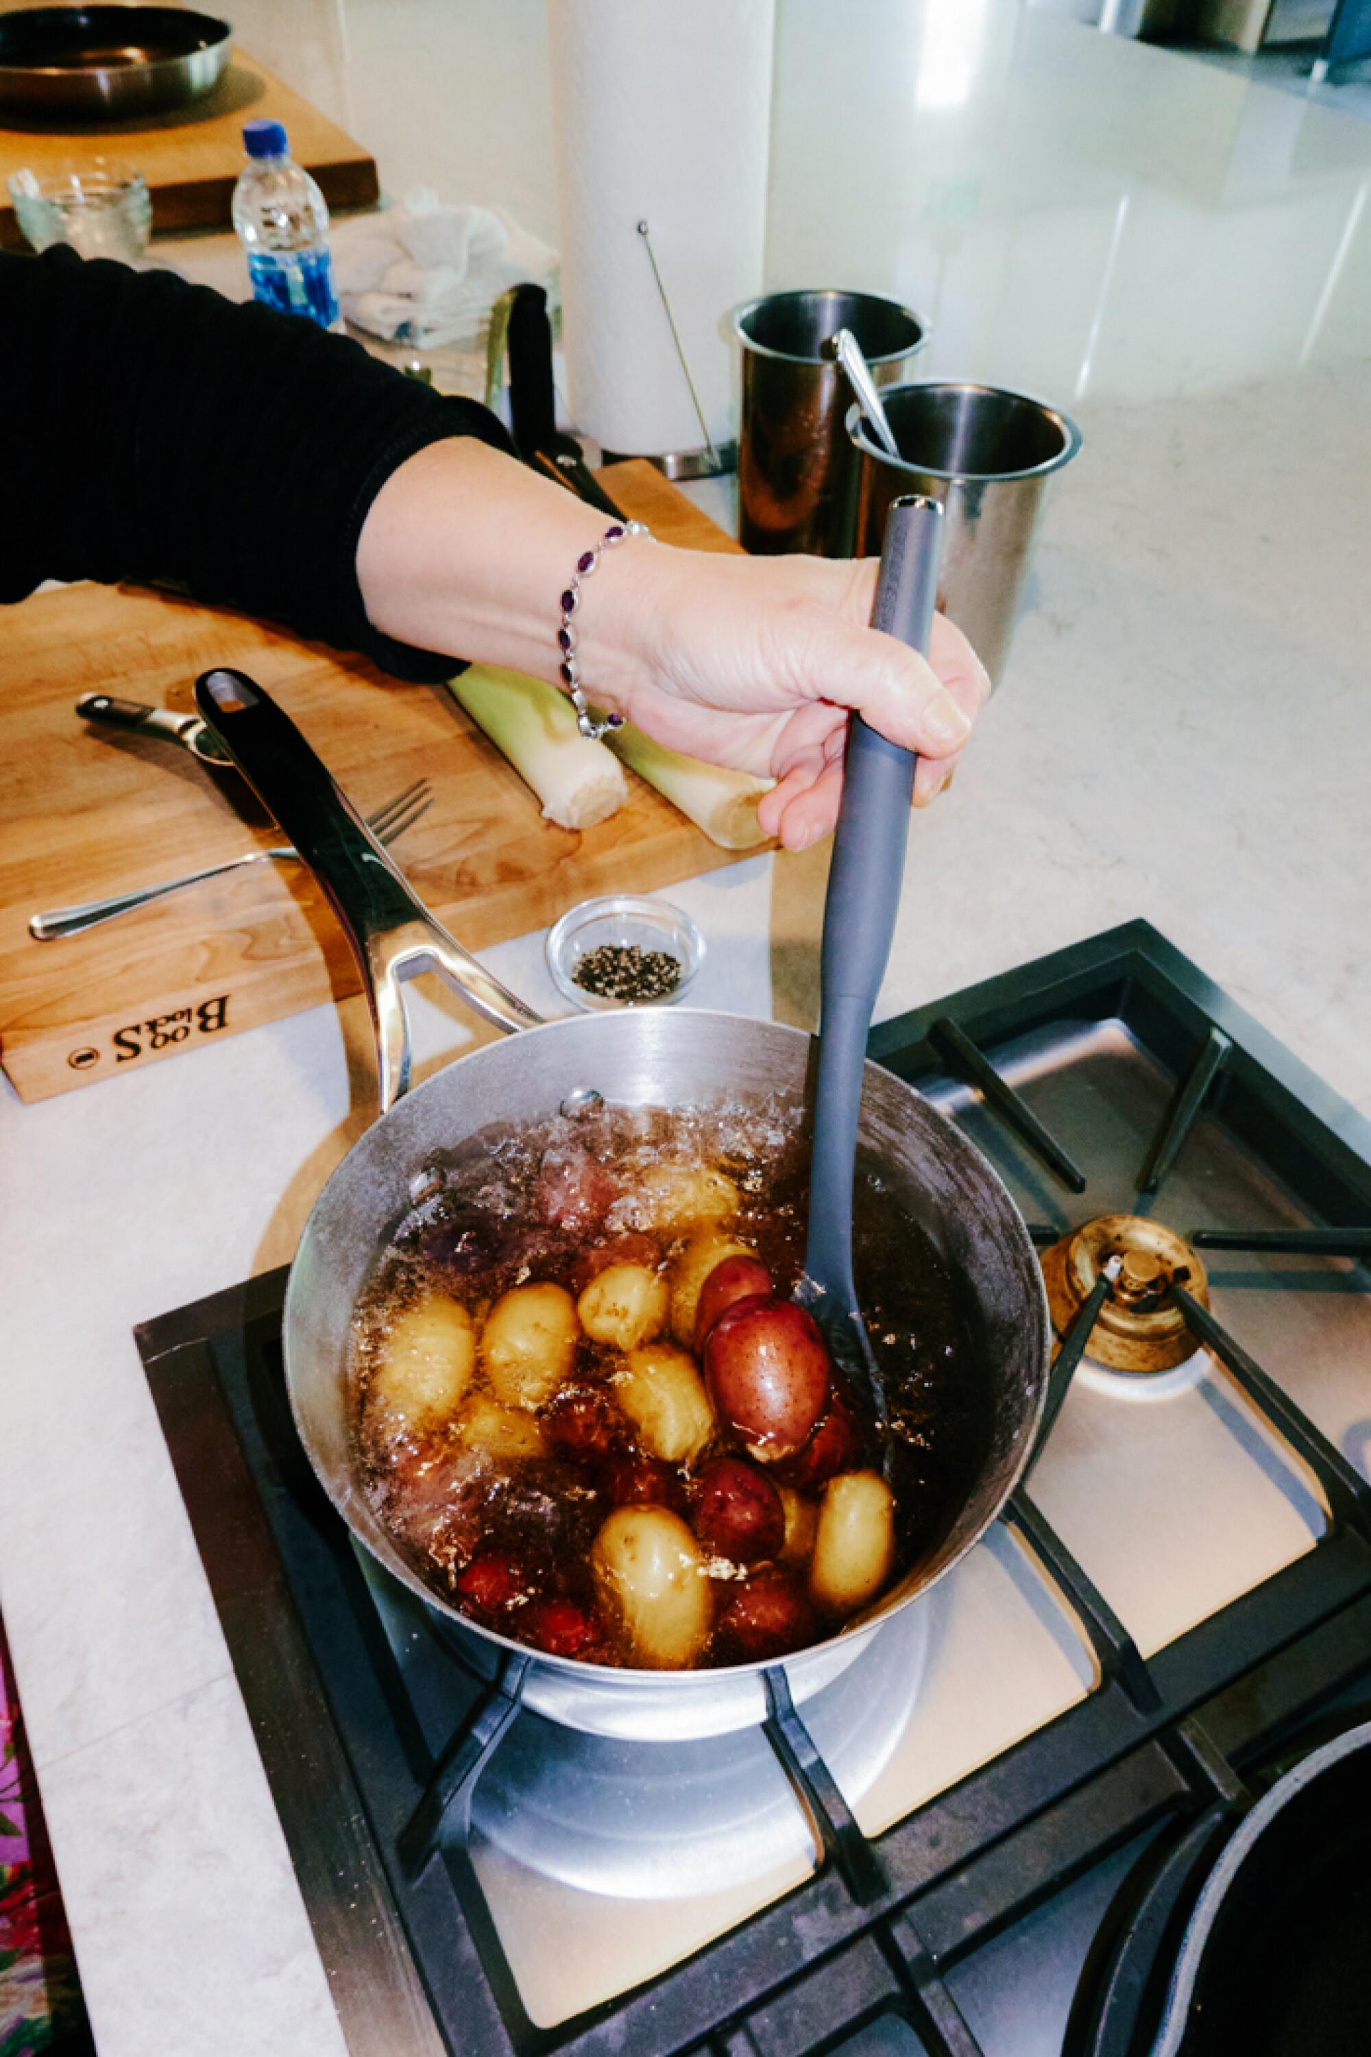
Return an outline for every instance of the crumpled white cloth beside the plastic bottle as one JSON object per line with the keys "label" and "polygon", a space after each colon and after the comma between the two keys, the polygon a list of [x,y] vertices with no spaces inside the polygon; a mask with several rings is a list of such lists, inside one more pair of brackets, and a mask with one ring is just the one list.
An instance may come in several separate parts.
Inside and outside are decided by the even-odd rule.
{"label": "crumpled white cloth beside the plastic bottle", "polygon": [[333,276],[347,321],[388,344],[436,350],[481,335],[510,286],[553,286],[557,251],[497,208],[456,208],[430,185],[386,214],[333,224]]}

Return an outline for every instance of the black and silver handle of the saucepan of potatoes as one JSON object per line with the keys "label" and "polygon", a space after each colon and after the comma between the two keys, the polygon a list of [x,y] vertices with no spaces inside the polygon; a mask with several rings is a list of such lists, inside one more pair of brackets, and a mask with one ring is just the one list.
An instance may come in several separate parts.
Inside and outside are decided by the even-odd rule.
{"label": "black and silver handle of the saucepan of potatoes", "polygon": [[409,1090],[405,979],[436,971],[497,1028],[534,1028],[543,1020],[415,899],[347,794],[261,685],[240,671],[206,671],[195,681],[195,706],[343,926],[372,1010],[382,1115]]}

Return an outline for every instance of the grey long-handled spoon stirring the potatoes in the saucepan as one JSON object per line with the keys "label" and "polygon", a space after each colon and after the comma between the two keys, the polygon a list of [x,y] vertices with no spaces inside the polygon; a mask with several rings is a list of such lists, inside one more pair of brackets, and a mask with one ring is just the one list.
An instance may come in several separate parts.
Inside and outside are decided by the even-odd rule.
{"label": "grey long-handled spoon stirring the potatoes in the saucepan", "polygon": [[[894,500],[886,516],[872,627],[921,656],[933,634],[941,527],[939,502],[923,494]],[[853,1284],[853,1179],[861,1068],[900,905],[913,780],[915,753],[853,714],[824,901],[810,1224],[795,1288],[795,1300],[882,1423],[884,1380]]]}

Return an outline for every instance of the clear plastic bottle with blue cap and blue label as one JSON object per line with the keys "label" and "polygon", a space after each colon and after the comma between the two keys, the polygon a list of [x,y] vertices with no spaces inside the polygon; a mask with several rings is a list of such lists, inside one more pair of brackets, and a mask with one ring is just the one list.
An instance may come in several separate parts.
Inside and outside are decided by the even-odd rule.
{"label": "clear plastic bottle with blue cap and blue label", "polygon": [[232,224],[253,298],[284,315],[306,315],[321,329],[341,329],[329,208],[319,185],[292,158],[280,121],[245,123],[243,142],[247,165],[232,191]]}

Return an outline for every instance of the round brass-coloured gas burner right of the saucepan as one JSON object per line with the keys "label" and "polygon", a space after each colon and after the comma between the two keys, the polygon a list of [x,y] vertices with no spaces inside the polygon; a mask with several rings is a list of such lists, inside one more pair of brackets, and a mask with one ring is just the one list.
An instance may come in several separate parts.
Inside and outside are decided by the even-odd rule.
{"label": "round brass-coloured gas burner right of the saucepan", "polygon": [[1114,1292],[1089,1337],[1089,1356],[1114,1372],[1168,1372],[1194,1356],[1196,1339],[1172,1286],[1209,1306],[1205,1265],[1188,1242],[1141,1214],[1102,1214],[1042,1253],[1042,1277],[1059,1337],[1081,1312],[1112,1257]]}

